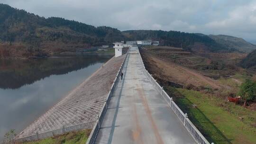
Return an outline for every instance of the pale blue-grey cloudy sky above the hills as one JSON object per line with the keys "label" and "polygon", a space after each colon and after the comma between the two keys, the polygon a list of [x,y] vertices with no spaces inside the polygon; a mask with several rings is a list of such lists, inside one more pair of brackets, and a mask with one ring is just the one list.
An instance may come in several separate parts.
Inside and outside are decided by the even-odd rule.
{"label": "pale blue-grey cloudy sky above the hills", "polygon": [[119,30],[177,30],[256,40],[256,0],[0,0],[44,17]]}

